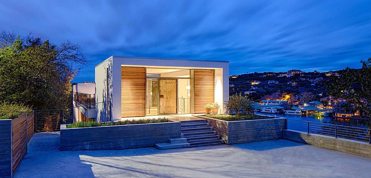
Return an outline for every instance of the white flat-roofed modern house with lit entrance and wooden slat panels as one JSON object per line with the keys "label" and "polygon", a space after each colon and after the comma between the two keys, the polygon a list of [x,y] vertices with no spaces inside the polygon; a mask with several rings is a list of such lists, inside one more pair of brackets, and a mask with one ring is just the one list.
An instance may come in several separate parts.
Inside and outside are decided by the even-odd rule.
{"label": "white flat-roofed modern house with lit entrance and wooden slat panels", "polygon": [[107,121],[105,108],[111,120],[204,113],[229,98],[228,74],[228,61],[111,56],[95,66],[95,102],[107,102],[97,114]]}

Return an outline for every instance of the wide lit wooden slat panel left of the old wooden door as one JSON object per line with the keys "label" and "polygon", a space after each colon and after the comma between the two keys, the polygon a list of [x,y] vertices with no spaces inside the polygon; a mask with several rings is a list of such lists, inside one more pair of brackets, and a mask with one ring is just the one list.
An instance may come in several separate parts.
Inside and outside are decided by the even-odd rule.
{"label": "wide lit wooden slat panel left of the old wooden door", "polygon": [[145,116],[145,68],[121,67],[121,117]]}

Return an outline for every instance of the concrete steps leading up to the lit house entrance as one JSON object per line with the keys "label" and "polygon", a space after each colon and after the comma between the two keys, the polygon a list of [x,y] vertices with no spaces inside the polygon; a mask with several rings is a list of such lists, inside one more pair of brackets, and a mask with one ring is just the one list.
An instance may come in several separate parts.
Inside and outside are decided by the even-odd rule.
{"label": "concrete steps leading up to the lit house entrance", "polygon": [[181,138],[169,139],[167,143],[155,144],[158,149],[185,148],[223,144],[214,128],[204,119],[181,122]]}

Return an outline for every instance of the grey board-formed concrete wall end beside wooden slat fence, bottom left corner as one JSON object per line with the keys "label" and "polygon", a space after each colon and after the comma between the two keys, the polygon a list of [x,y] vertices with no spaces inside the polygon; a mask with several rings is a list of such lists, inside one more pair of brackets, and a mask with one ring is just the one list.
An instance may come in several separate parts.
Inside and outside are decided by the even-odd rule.
{"label": "grey board-formed concrete wall end beside wooden slat fence, bottom left corner", "polygon": [[12,119],[0,120],[0,178],[12,177]]}

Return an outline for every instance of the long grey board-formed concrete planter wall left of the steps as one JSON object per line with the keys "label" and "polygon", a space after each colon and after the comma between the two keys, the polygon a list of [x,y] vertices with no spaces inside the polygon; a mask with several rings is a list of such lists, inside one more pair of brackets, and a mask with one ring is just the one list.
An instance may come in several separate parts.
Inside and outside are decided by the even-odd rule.
{"label": "long grey board-formed concrete planter wall left of the steps", "polygon": [[60,150],[144,148],[180,137],[180,122],[177,121],[69,129],[62,125]]}

